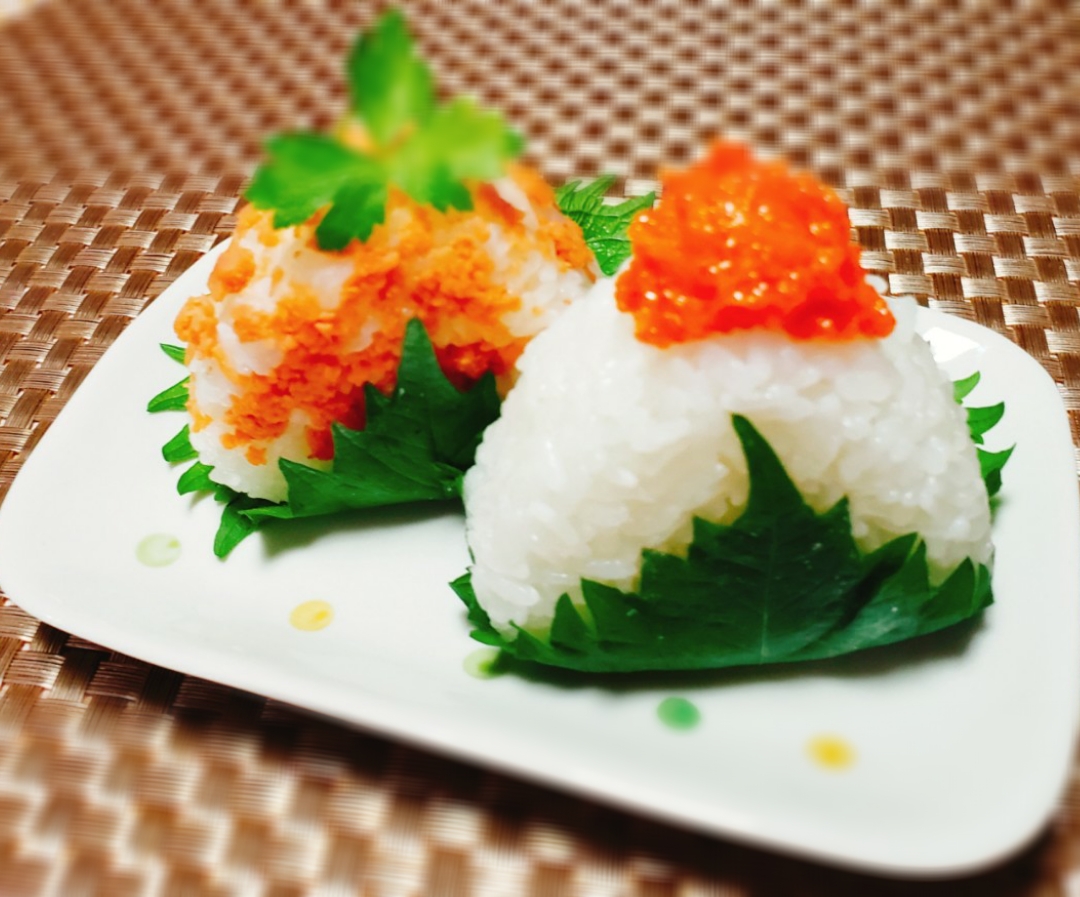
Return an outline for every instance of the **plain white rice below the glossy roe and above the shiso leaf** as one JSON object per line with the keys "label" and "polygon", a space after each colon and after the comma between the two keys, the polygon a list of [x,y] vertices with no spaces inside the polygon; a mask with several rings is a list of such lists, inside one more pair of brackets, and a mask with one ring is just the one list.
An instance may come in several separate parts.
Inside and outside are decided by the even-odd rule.
{"label": "plain white rice below the glossy roe and above the shiso leaf", "polygon": [[634,588],[643,548],[685,554],[694,516],[735,519],[748,494],[731,414],[769,440],[819,513],[842,497],[863,551],[918,532],[931,575],[991,555],[964,411],[892,303],[883,340],[745,331],[659,349],[598,283],[518,361],[519,379],[464,483],[472,583],[492,624],[543,633],[582,577]]}

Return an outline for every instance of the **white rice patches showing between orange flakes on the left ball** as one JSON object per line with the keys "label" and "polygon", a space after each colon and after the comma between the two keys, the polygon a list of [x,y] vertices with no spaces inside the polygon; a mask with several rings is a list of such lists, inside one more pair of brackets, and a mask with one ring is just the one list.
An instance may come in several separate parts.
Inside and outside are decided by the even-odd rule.
{"label": "white rice patches showing between orange flakes on the left ball", "polygon": [[[538,215],[552,214],[550,209],[534,208],[524,191],[509,177],[495,181],[492,186],[505,202],[525,214],[524,223],[529,230],[536,229]],[[396,209],[391,215],[387,221],[391,231],[395,226],[404,225],[403,221],[395,221],[394,215],[407,216],[408,213]],[[511,241],[498,225],[490,223],[488,232],[485,248],[495,264],[492,280],[521,298],[519,308],[503,317],[503,325],[511,337],[534,337],[592,286],[593,272],[562,270],[539,249],[524,256],[515,254]],[[332,315],[341,304],[346,282],[354,270],[347,256],[319,250],[311,240],[310,227],[284,228],[276,232],[276,236],[278,241],[272,246],[259,240],[255,228],[234,237],[253,254],[255,276],[243,289],[227,296],[216,305],[219,357],[200,357],[189,363],[189,393],[193,405],[212,421],[202,430],[192,427],[191,446],[199,452],[199,460],[214,468],[211,478],[215,483],[253,498],[275,502],[283,501],[287,493],[285,478],[278,466],[280,459],[316,468],[327,468],[330,462],[310,457],[306,431],[311,420],[299,407],[292,412],[284,433],[260,444],[266,450],[265,464],[252,464],[247,460],[245,452],[249,444],[231,448],[222,444],[222,437],[231,430],[225,422],[226,412],[242,389],[230,378],[228,368],[231,367],[240,376],[268,375],[283,357],[281,348],[273,341],[242,342],[233,329],[233,310],[245,308],[271,313],[279,302],[293,296],[298,288],[308,288],[319,298],[321,311]],[[380,326],[378,321],[365,322],[346,344],[345,351],[363,352]],[[510,384],[502,385],[509,388]]]}

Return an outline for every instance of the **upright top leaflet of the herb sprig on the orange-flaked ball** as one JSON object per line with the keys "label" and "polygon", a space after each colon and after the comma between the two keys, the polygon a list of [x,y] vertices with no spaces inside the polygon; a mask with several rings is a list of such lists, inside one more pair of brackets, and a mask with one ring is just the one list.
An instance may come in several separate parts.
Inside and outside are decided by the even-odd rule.
{"label": "upright top leaflet of the herb sprig on the orange-flaked ball", "polygon": [[431,70],[417,54],[399,10],[384,13],[357,38],[348,71],[353,110],[378,144],[391,144],[434,111]]}

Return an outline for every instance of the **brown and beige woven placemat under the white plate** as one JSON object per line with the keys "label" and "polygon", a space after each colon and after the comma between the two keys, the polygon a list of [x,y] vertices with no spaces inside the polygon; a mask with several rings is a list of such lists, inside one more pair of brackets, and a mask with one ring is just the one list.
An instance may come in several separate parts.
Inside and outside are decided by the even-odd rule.
{"label": "brown and beige woven placemat under the white plate", "polygon": [[[1024,346],[1080,443],[1078,8],[406,9],[445,89],[502,108],[556,181],[615,172],[643,192],[716,134],[814,168],[850,202],[867,267]],[[0,497],[102,352],[229,233],[262,136],[335,118],[342,53],[373,13],[70,0],[0,27]],[[1078,801],[1080,786],[991,873],[885,882],[150,667],[0,596],[4,897],[1067,897]]]}

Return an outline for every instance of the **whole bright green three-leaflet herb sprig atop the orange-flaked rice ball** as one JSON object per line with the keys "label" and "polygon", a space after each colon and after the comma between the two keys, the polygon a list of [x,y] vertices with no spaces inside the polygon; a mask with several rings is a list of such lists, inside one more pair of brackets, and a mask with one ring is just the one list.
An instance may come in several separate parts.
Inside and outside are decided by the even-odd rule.
{"label": "whole bright green three-leaflet herb sprig atop the orange-flaked rice ball", "polygon": [[498,178],[521,154],[522,138],[499,114],[467,98],[436,103],[431,70],[396,10],[356,40],[348,74],[350,117],[370,148],[325,134],[279,135],[244,194],[257,208],[273,209],[278,228],[325,208],[315,229],[323,249],[366,240],[386,216],[391,187],[438,209],[470,209],[465,181]]}

